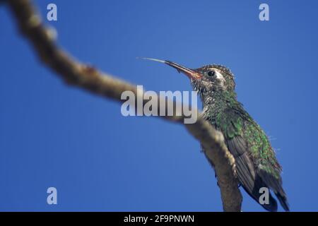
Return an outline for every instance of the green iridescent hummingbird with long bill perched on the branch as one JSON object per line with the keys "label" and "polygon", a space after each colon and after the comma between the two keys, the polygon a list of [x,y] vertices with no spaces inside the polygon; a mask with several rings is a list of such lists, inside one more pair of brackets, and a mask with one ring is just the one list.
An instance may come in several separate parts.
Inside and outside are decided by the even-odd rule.
{"label": "green iridescent hummingbird with long bill perched on the branch", "polygon": [[[271,195],[272,191],[283,209],[289,211],[281,179],[282,167],[266,133],[237,101],[234,75],[230,69],[219,64],[189,69],[172,61],[143,59],[172,66],[190,79],[203,103],[204,119],[223,133],[225,144],[235,158],[238,186],[242,186],[266,210],[277,211],[277,202]],[[259,201],[263,194],[261,188],[269,189],[267,202]]]}

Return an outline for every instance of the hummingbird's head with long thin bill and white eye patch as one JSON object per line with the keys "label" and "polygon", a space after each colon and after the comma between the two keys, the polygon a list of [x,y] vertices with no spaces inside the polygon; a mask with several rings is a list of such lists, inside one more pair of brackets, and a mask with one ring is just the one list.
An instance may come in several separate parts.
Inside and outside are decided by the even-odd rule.
{"label": "hummingbird's head with long thin bill and white eye patch", "polygon": [[201,97],[206,95],[215,95],[218,93],[235,93],[234,76],[230,69],[218,64],[209,64],[199,69],[189,69],[185,66],[176,64],[172,61],[163,61],[159,59],[144,58],[172,66],[179,73],[184,73],[190,78],[190,81]]}

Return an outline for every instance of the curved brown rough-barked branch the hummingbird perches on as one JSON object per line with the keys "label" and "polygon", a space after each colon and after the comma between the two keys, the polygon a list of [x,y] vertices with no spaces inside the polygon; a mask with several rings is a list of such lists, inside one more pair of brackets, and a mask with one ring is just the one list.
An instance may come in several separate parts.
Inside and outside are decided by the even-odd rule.
{"label": "curved brown rough-barked branch the hummingbird perches on", "polygon": [[[52,30],[43,25],[40,15],[30,0],[5,0],[16,18],[22,35],[33,45],[40,60],[57,73],[67,84],[90,91],[95,95],[110,98],[119,102],[124,91],[130,90],[137,96],[136,85],[131,85],[82,64],[70,57],[54,40]],[[195,124],[184,124],[204,148],[204,154],[216,171],[218,185],[224,211],[240,211],[242,195],[237,187],[235,177],[235,160],[224,143],[222,133],[216,131],[202,115],[197,112],[198,120]],[[184,115],[162,117],[164,119],[183,124]]]}

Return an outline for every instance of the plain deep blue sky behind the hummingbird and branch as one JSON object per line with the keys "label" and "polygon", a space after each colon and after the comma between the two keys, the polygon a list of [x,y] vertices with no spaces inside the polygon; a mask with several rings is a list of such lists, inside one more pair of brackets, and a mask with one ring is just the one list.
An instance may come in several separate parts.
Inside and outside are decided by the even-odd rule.
{"label": "plain deep blue sky behind the hummingbird and branch", "polygon": [[[136,57],[230,67],[276,148],[291,210],[318,210],[317,1],[36,1],[44,18],[51,2],[58,21],[45,23],[62,47],[147,90],[191,86]],[[183,126],[123,117],[117,102],[61,82],[8,8],[0,28],[0,210],[222,210],[213,169]],[[245,193],[243,210],[263,211]]]}

